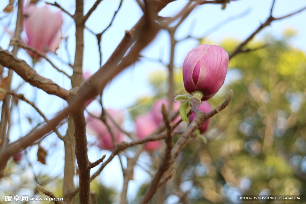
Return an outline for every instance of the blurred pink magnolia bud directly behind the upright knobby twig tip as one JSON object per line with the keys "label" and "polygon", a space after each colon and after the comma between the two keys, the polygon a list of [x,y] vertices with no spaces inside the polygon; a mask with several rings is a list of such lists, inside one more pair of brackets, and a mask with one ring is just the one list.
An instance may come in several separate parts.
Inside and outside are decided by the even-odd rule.
{"label": "blurred pink magnolia bud directly behind the upright knobby twig tip", "polygon": [[[168,109],[169,107],[169,101],[168,99],[166,98],[161,98],[161,99],[158,99],[154,105],[152,106],[152,109],[151,109],[151,112],[152,112],[152,115],[153,115],[153,118],[155,120],[155,122],[159,125],[161,123],[163,123],[163,120],[162,120],[162,104],[165,104],[166,106],[166,109]],[[173,112],[177,112],[181,107],[181,103],[178,102],[178,101],[174,101],[173,102]],[[180,116],[177,116],[175,119],[174,119],[174,123],[178,122],[179,120],[181,119]]]}

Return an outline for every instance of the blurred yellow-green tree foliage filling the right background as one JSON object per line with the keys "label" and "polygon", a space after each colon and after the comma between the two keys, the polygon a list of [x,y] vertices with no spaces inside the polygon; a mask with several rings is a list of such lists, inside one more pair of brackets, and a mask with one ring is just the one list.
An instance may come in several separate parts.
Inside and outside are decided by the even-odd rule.
{"label": "blurred yellow-green tree foliage filling the right background", "polygon": [[[199,204],[237,203],[237,195],[306,197],[306,56],[290,45],[294,35],[290,29],[282,39],[267,35],[248,43],[255,50],[230,60],[226,83],[209,103],[217,107],[230,89],[233,99],[211,118],[207,144],[189,139],[166,196]],[[228,53],[238,44],[234,39],[218,43]],[[167,96],[167,71],[152,73],[149,82],[155,95],[140,98],[131,118]],[[175,70],[175,94],[186,94],[181,69]]]}

